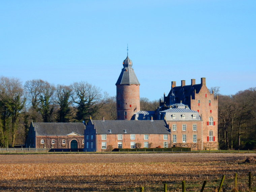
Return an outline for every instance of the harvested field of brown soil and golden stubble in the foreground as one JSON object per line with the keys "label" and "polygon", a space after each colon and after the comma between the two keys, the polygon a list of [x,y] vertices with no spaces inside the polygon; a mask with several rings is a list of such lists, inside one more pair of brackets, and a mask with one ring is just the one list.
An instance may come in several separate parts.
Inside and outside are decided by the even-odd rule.
{"label": "harvested field of brown soil and golden stubble in the foreground", "polygon": [[[233,174],[238,189],[248,190],[248,172],[256,164],[244,164],[238,153],[164,154],[40,154],[0,155],[0,191],[214,191],[222,174],[224,188],[231,191]],[[252,180],[255,186],[255,179]],[[255,188],[253,188],[255,189]]]}

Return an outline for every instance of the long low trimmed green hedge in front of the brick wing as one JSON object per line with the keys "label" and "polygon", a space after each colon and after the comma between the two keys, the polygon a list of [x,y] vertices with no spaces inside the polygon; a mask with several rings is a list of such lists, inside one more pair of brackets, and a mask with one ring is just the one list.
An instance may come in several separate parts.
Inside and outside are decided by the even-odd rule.
{"label": "long low trimmed green hedge in front of the brick wing", "polygon": [[113,152],[188,152],[191,150],[190,147],[175,147],[175,148],[135,148],[135,149],[113,149]]}

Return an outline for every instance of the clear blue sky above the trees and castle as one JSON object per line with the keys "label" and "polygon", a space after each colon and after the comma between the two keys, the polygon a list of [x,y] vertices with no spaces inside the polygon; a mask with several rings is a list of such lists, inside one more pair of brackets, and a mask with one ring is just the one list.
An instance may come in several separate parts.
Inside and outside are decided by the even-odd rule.
{"label": "clear blue sky above the trees and castle", "polygon": [[235,94],[256,86],[255,10],[254,0],[2,0],[0,75],[114,96],[128,43],[141,97],[200,77]]}

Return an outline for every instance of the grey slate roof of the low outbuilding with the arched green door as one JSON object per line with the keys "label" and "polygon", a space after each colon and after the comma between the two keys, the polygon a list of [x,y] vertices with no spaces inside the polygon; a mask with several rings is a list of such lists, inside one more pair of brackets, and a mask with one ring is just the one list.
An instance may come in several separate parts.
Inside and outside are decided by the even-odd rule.
{"label": "grey slate roof of the low outbuilding with the arched green door", "polygon": [[75,132],[84,135],[83,123],[32,123],[36,135],[68,135]]}

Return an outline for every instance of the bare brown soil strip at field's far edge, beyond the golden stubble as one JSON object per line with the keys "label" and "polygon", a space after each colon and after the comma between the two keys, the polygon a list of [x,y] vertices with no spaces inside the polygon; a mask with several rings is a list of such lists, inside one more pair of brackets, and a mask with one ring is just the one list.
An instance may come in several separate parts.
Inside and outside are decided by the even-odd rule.
{"label": "bare brown soil strip at field's far edge, beyond the golden stubble", "polygon": [[256,153],[149,153],[149,154],[25,154],[0,155],[0,164],[15,163],[143,163],[243,161]]}

